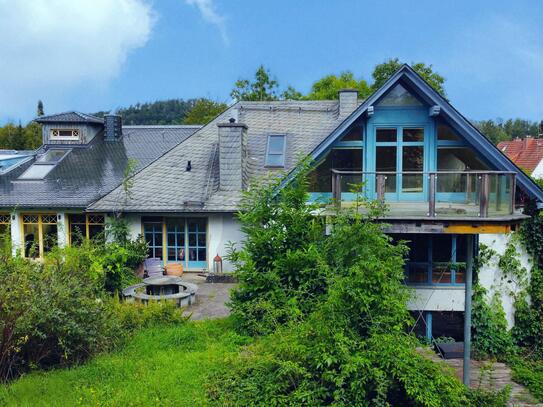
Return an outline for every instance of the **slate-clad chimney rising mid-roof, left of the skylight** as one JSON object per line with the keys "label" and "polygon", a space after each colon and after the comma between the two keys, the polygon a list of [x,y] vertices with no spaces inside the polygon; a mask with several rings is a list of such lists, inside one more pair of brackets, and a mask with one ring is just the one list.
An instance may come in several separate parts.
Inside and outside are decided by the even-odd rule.
{"label": "slate-clad chimney rising mid-roof, left of the skylight", "polygon": [[247,185],[247,125],[230,119],[219,128],[219,187],[241,191]]}

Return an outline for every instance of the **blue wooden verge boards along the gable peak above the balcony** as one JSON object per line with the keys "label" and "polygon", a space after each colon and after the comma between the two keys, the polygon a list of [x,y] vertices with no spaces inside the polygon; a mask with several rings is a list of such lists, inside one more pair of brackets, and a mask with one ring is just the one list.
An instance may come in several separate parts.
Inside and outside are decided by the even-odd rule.
{"label": "blue wooden verge boards along the gable peak above the balcony", "polygon": [[536,198],[539,202],[543,202],[543,190],[494,144],[492,144],[490,140],[477,130],[469,120],[462,116],[462,114],[460,114],[443,96],[428,85],[419,74],[406,64],[392,75],[381,88],[371,94],[343,122],[341,122],[341,124],[311,152],[311,159],[319,160],[328,149],[345,134],[356,120],[366,114],[370,107],[376,105],[377,102],[398,83],[402,83],[404,87],[406,86],[409,88],[408,90],[410,92],[416,93],[416,95],[429,106],[436,106],[439,109],[439,116],[443,117],[474,150],[492,161],[498,170],[516,172],[518,185],[533,198]]}

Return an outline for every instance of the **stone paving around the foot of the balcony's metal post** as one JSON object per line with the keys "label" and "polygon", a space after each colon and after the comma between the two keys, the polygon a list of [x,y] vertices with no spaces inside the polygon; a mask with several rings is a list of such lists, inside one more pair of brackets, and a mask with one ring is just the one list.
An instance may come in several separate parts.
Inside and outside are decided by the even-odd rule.
{"label": "stone paving around the foot of the balcony's metal post", "polygon": [[[421,350],[421,353],[428,355],[432,360],[445,363],[452,367],[458,380],[462,380],[463,360],[462,359],[441,359],[432,351]],[[515,383],[511,379],[511,369],[504,363],[472,360],[470,362],[470,387],[484,388],[489,390],[500,390],[505,386],[511,386],[511,400],[509,406],[528,407],[543,406],[529,393],[524,386]]]}

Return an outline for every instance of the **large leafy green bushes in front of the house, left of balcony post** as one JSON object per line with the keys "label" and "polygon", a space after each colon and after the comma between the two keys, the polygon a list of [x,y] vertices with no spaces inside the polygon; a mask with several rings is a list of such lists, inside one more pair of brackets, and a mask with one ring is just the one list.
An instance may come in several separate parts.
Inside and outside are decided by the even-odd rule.
{"label": "large leafy green bushes in front of the house, left of balcony post", "polygon": [[[449,371],[409,335],[406,248],[355,208],[329,219],[329,236],[305,204],[305,173],[279,194],[255,186],[240,213],[234,251],[240,287],[232,311],[243,333],[263,335],[212,375],[217,405],[467,404]],[[361,204],[364,204],[363,202]],[[477,396],[479,397],[479,396]]]}

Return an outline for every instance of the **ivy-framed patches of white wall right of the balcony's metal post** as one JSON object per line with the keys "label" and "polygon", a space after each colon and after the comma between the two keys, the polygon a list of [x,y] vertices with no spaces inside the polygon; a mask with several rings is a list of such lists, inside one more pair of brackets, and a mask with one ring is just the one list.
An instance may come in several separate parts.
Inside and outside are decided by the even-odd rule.
{"label": "ivy-framed patches of white wall right of the balcony's metal post", "polygon": [[[495,250],[499,255],[503,255],[512,235],[480,235],[479,242]],[[531,260],[526,250],[517,245],[518,258],[523,267],[528,272],[531,270]],[[512,293],[518,292],[519,287],[515,281],[503,279],[503,272],[498,267],[499,259],[497,256],[492,258],[488,264],[485,264],[479,270],[479,282],[488,291],[488,300],[492,298],[495,292],[500,293],[501,301],[507,318],[509,328],[513,327],[515,310],[513,307]]]}

